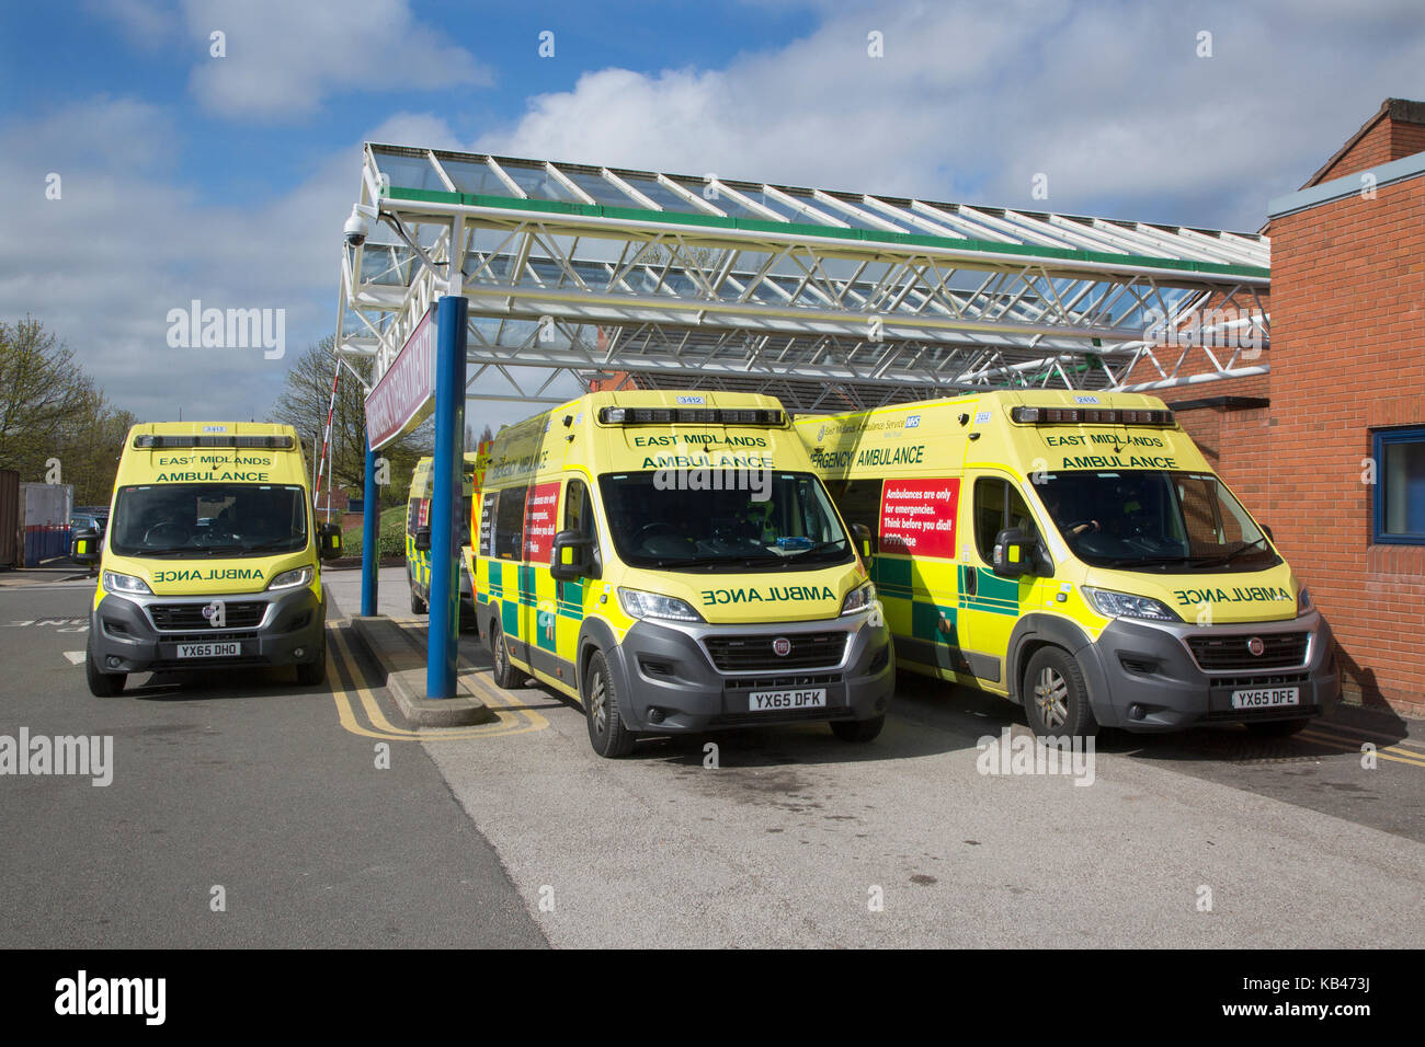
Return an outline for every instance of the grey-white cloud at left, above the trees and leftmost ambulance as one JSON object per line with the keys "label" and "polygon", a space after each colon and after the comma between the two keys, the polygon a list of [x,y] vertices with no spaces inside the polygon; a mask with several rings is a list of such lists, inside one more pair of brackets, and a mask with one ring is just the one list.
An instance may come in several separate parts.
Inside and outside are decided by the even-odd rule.
{"label": "grey-white cloud at left, above the trees and leftmost ambulance", "polygon": [[[95,98],[0,128],[0,316],[31,313],[111,400],[144,419],[262,417],[291,363],[261,349],[172,349],[167,313],[191,299],[284,309],[288,356],[335,325],[341,224],[356,145],[252,208],[212,205],[167,177],[174,124],[157,107]],[[58,174],[61,197],[47,199]]]}

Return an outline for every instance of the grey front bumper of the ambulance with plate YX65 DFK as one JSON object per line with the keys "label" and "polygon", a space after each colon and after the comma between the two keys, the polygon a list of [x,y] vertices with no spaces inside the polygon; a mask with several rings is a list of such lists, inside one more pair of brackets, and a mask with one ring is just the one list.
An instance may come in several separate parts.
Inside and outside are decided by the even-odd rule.
{"label": "grey front bumper of the ambulance with plate YX65 DFK", "polygon": [[[844,632],[842,654],[824,665],[722,671],[708,640],[788,638]],[[620,709],[631,731],[685,734],[735,726],[805,721],[872,719],[895,692],[895,655],[881,614],[869,611],[829,621],[752,625],[636,623],[613,650],[604,651],[623,684]],[[825,689],[825,707],[752,711],[754,691]]]}

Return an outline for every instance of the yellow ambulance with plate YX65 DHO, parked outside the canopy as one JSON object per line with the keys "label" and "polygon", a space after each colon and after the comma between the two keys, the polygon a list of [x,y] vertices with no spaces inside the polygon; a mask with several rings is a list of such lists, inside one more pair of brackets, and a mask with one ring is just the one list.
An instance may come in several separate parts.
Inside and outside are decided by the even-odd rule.
{"label": "yellow ambulance with plate YX65 DHO, parked outside the canopy", "polygon": [[292,426],[157,422],[128,430],[98,563],[86,674],[111,697],[131,672],[295,665],[326,677],[325,558],[341,528],[318,527]]}

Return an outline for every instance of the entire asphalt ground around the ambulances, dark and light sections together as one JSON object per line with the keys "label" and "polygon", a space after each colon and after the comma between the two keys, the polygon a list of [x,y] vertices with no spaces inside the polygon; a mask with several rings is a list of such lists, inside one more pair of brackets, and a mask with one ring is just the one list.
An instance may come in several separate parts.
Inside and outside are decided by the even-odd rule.
{"label": "entire asphalt ground around the ambulances, dark and light sections together", "polygon": [[[0,778],[0,944],[1377,947],[1425,932],[1418,725],[1109,732],[1083,773],[983,773],[980,739],[1023,735],[1022,714],[906,678],[869,745],[805,725],[604,761],[576,705],[487,675],[500,725],[402,728],[342,624],[358,575],[328,578],[326,687],[185,674],[114,699],[73,664],[91,583],[0,585],[0,735],[114,738],[107,788]],[[419,627],[399,568],[380,597]],[[463,650],[483,660],[470,634]]]}

